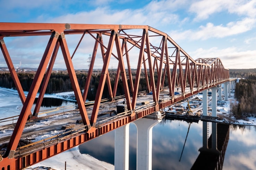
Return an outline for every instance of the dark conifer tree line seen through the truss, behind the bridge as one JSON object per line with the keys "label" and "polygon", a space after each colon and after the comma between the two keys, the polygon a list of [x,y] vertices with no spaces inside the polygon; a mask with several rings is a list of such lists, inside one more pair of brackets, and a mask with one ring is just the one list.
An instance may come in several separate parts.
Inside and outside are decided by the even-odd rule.
{"label": "dark conifer tree line seen through the truss, behind the bridge", "polygon": [[[114,71],[109,73],[110,73],[111,87],[113,88],[114,81],[116,79],[116,72]],[[17,75],[18,75],[20,84],[22,85],[23,91],[29,91],[35,77],[35,72],[19,72],[17,73]],[[76,71],[76,77],[81,90],[83,90],[85,87],[87,76],[88,74],[85,71]],[[99,87],[100,76],[101,76],[100,71],[95,70],[93,72],[88,94],[87,94],[87,100],[90,100],[90,101],[95,100],[97,88]],[[128,81],[127,82],[128,87],[130,89],[130,82],[129,82],[130,80],[128,79],[127,81]],[[133,79],[133,81],[135,81],[135,79]],[[0,72],[0,87],[14,88],[14,89],[16,88],[10,72]],[[40,89],[41,89],[41,86],[40,86]],[[145,79],[145,76],[142,76],[142,78],[140,78],[138,91],[146,91],[146,90],[147,90],[146,79]],[[70,92],[70,91],[73,91],[73,89],[72,89],[71,81],[67,71],[52,72],[45,93],[53,94],[53,93]],[[123,94],[124,94],[123,85],[122,85],[121,78],[119,78],[116,95],[119,96]],[[104,85],[102,98],[109,98],[108,86],[106,83]]]}

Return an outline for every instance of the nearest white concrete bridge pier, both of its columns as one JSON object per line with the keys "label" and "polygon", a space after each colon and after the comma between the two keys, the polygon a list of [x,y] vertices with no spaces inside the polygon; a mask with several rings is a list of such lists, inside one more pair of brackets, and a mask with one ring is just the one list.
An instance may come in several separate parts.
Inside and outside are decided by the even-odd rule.
{"label": "nearest white concrete bridge pier, both of its columns", "polygon": [[[152,113],[154,114],[154,113]],[[137,128],[137,169],[152,169],[152,129],[161,119],[141,118],[133,123]],[[129,169],[129,124],[115,130],[114,167]]]}

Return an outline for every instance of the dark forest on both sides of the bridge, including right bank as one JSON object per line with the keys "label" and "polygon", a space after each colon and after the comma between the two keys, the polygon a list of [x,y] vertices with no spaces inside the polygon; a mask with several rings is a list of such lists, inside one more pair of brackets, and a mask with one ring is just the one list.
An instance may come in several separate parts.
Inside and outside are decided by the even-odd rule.
{"label": "dark forest on both sides of the bridge, including right bank", "polygon": [[[230,105],[230,111],[237,118],[246,117],[250,115],[256,115],[256,68],[254,69],[230,69],[230,77],[241,78],[239,82],[236,83],[236,89],[234,92],[234,97],[238,103],[234,102]],[[116,78],[116,71],[109,70],[111,86],[113,87]],[[133,81],[135,81],[136,70],[132,70]],[[146,91],[146,79],[144,72],[141,73],[139,89],[138,91]],[[24,91],[29,91],[29,88],[34,80],[35,71],[31,72],[19,72],[17,73],[20,83]],[[90,90],[88,91],[87,100],[95,100],[96,91],[99,86],[100,81],[100,70],[94,70],[92,74],[92,79],[90,83]],[[78,79],[78,84],[81,90],[84,89],[87,72],[85,70],[77,70],[76,76]],[[157,81],[157,76],[155,76]],[[128,79],[128,86],[130,85]],[[165,76],[164,86],[167,86],[167,76]],[[0,87],[14,88],[15,84],[12,81],[10,72],[1,71],[0,72]],[[130,88],[130,87],[129,87]],[[49,83],[46,88],[47,94],[60,93],[72,91],[71,82],[67,71],[62,70],[59,72],[52,72]],[[82,92],[81,92],[82,93]],[[117,96],[123,95],[123,87],[121,79],[119,79],[117,87]],[[102,98],[109,98],[108,88],[105,85],[103,90]]]}

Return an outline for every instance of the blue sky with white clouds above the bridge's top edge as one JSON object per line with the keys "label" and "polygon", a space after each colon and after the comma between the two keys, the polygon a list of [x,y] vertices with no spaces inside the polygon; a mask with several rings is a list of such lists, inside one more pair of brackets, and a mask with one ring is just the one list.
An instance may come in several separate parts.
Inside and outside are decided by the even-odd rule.
{"label": "blue sky with white clouds above the bridge's top edge", "polygon": [[256,68],[256,0],[0,1],[0,22],[149,25],[193,59],[219,57],[225,68]]}

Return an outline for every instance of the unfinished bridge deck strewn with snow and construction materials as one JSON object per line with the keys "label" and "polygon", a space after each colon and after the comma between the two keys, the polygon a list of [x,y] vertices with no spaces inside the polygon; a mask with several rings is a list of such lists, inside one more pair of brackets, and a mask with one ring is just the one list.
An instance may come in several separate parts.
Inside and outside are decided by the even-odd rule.
{"label": "unfinished bridge deck strewn with snow and construction materials", "polygon": [[[204,88],[202,88],[204,89]],[[186,94],[190,94],[191,91],[189,87],[186,88]],[[164,89],[160,92],[160,108],[164,108],[169,106],[167,103],[176,103],[180,101],[180,98],[183,100],[183,95],[177,94],[175,98],[175,102],[171,101],[169,97],[168,88]],[[149,104],[143,105],[142,102],[148,101]],[[101,103],[100,110],[97,116],[97,124],[96,127],[101,127],[111,122],[115,122],[117,120],[128,118],[130,112],[123,112],[117,114],[117,105],[123,103],[123,98],[119,100],[115,100],[113,102],[105,102]],[[139,113],[141,111],[147,111],[149,108],[154,107],[154,102],[152,95],[149,94],[141,94],[137,97],[136,109],[135,112]],[[201,107],[200,107],[201,108]],[[198,108],[197,110],[199,110]],[[93,105],[86,106],[87,114],[89,118],[92,115]],[[152,113],[152,112],[151,112]],[[150,114],[148,112],[147,114]],[[58,113],[54,115],[47,115],[43,117],[38,117],[37,119],[32,119],[27,121],[25,129],[23,131],[21,140],[18,145],[18,149],[16,151],[15,157],[20,157],[20,154],[26,155],[33,150],[38,150],[40,147],[37,145],[41,145],[43,143],[43,148],[45,147],[45,142],[52,141],[56,139],[57,141],[65,140],[66,138],[71,138],[74,135],[78,135],[80,133],[86,133],[86,126],[83,125],[81,120],[81,115],[78,109],[63,113]],[[5,132],[5,136],[0,136],[0,154],[3,155],[5,152],[6,146],[10,140],[10,136],[12,131],[14,130],[14,124],[7,124],[0,127],[0,129]],[[108,132],[107,130],[106,132]],[[104,132],[105,133],[105,132]],[[94,136],[96,137],[96,136]],[[31,149],[31,144],[33,144],[33,148]],[[29,149],[23,149],[23,145],[28,144]],[[52,145],[52,142],[48,142],[48,145]]]}

